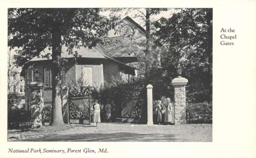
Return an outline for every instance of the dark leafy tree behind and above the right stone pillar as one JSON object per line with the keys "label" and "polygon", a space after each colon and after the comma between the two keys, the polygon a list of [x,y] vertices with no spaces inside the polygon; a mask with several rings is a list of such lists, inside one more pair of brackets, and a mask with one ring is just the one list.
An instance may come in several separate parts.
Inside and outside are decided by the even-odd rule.
{"label": "dark leafy tree behind and above the right stone pillar", "polygon": [[[154,25],[157,28],[154,34],[155,43],[165,47],[162,66],[167,76],[172,78],[175,67],[181,64],[183,76],[189,79],[188,96],[196,98],[193,102],[210,101],[212,9],[180,9],[169,19],[161,18]],[[195,94],[198,94],[198,97],[195,97]]]}

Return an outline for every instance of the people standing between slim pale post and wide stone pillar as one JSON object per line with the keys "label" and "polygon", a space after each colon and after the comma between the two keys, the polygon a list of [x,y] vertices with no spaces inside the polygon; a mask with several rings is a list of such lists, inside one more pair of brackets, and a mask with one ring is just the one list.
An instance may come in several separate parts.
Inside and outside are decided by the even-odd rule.
{"label": "people standing between slim pale post and wide stone pillar", "polygon": [[[172,119],[172,103],[171,99],[167,98],[166,103],[162,103],[160,100],[157,101],[157,123],[160,125],[162,121],[165,122],[165,124],[169,124],[173,122]],[[164,114],[164,118],[162,118]]]}

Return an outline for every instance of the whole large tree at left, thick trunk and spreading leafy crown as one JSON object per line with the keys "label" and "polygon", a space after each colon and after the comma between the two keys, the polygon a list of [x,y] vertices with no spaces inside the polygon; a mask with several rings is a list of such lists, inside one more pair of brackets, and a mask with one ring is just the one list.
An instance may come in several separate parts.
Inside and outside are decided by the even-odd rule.
{"label": "whole large tree at left, thick trunk and spreading leafy crown", "polygon": [[[104,9],[103,9],[104,10]],[[9,8],[8,45],[22,48],[15,56],[22,66],[47,46],[52,49],[52,120],[63,123],[61,113],[61,46],[77,56],[73,48],[92,48],[106,43],[116,18],[100,15],[99,8]],[[44,56],[49,57],[49,56]]]}

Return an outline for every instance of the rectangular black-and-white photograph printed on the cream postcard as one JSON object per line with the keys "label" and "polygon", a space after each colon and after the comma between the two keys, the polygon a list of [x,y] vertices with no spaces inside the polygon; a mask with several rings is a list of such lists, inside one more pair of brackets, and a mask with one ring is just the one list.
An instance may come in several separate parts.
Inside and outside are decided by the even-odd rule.
{"label": "rectangular black-and-white photograph printed on the cream postcard", "polygon": [[8,8],[8,141],[212,141],[212,8]]}

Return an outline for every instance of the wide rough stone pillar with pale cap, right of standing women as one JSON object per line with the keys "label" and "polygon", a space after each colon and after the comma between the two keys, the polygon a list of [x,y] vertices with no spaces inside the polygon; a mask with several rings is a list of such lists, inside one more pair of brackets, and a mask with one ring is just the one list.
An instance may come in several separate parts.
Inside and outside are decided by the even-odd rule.
{"label": "wide rough stone pillar with pale cap, right of standing women", "polygon": [[174,124],[186,124],[186,84],[188,80],[178,76],[172,80],[174,87]]}

